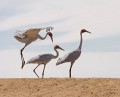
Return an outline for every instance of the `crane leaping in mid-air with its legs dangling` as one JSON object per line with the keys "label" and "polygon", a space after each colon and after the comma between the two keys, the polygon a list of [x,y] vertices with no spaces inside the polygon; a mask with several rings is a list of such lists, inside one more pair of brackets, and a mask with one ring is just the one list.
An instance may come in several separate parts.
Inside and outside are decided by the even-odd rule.
{"label": "crane leaping in mid-air with its legs dangling", "polygon": [[[41,30],[45,30],[46,29],[46,35],[45,37],[40,36],[38,33]],[[16,40],[18,40],[21,43],[25,43],[25,46],[20,50],[20,54],[21,54],[21,60],[22,60],[22,66],[21,68],[23,68],[23,66],[25,65],[25,61],[24,61],[24,57],[23,57],[23,50],[25,49],[26,46],[28,46],[29,44],[31,44],[32,42],[34,42],[37,39],[41,39],[44,40],[46,39],[46,37],[49,35],[52,42],[53,42],[53,37],[52,37],[52,33],[50,32],[50,30],[52,30],[53,27],[45,27],[45,28],[31,28],[26,30],[23,33],[17,33],[14,38]]]}

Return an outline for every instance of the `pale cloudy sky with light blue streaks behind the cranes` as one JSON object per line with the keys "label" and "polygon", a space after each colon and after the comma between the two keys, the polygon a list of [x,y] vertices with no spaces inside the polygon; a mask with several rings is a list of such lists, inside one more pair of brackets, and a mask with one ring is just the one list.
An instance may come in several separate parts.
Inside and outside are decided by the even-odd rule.
{"label": "pale cloudy sky with light blue streaks behind the cranes", "polygon": [[[79,32],[85,28],[80,58],[74,63],[72,77],[120,78],[120,1],[119,0],[0,0],[0,78],[36,78],[37,64],[21,70],[20,49],[24,44],[14,39],[16,30],[53,26],[50,38],[37,40],[23,52],[25,60],[43,53],[55,54],[58,44],[65,51],[76,49]],[[45,31],[39,33],[44,36]],[[57,58],[58,59],[58,58]],[[57,59],[47,64],[45,77],[68,77],[70,63],[56,66]],[[43,66],[36,72],[41,77]]]}

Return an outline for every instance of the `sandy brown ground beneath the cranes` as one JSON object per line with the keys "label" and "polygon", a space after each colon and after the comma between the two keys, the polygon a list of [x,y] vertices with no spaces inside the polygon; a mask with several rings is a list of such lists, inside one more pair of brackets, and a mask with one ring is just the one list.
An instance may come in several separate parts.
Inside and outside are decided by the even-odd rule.
{"label": "sandy brown ground beneath the cranes", "polygon": [[120,79],[0,79],[0,97],[120,97]]}

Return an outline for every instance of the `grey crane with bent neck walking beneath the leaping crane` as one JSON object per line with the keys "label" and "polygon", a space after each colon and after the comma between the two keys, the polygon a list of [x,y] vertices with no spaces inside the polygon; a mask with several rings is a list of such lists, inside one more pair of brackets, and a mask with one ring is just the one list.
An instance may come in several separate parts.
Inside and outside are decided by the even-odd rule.
{"label": "grey crane with bent neck walking beneath the leaping crane", "polygon": [[[35,70],[38,68],[38,66],[40,66],[41,64],[44,65],[43,68],[43,72],[42,72],[42,78],[44,77],[44,71],[45,71],[45,66],[48,62],[50,62],[52,59],[56,59],[59,56],[59,53],[57,51],[57,49],[61,49],[64,51],[64,49],[62,49],[61,47],[59,47],[58,45],[56,45],[54,47],[54,50],[56,52],[56,55],[53,54],[42,54],[42,55],[38,55],[36,57],[31,58],[30,60],[27,61],[26,64],[30,64],[30,63],[34,63],[34,64],[38,64],[37,67],[33,70],[33,72],[37,75],[37,73],[35,72]],[[39,78],[39,76],[37,75],[37,77]]]}

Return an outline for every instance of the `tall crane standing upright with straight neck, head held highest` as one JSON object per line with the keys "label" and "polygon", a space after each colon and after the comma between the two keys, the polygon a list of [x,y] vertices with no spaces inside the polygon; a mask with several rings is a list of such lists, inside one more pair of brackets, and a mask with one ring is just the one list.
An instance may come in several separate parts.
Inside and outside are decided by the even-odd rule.
{"label": "tall crane standing upright with straight neck, head held highest", "polygon": [[59,58],[59,59],[57,60],[57,63],[56,63],[56,65],[59,65],[59,64],[62,64],[62,63],[66,63],[66,62],[71,62],[71,66],[70,66],[70,69],[69,69],[69,77],[70,77],[70,78],[71,78],[71,69],[72,69],[72,66],[73,66],[74,62],[80,57],[80,54],[81,54],[82,41],[83,41],[83,39],[82,39],[82,34],[83,34],[84,32],[91,33],[91,32],[89,32],[89,31],[87,31],[87,30],[85,30],[85,29],[82,29],[82,30],[80,31],[81,40],[80,40],[80,45],[79,45],[79,47],[78,47],[77,49],[75,49],[74,51],[66,54],[65,56]]}

